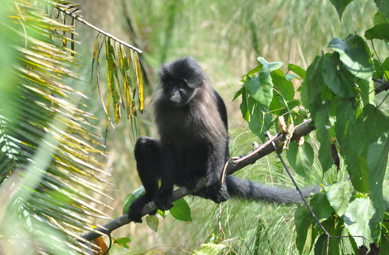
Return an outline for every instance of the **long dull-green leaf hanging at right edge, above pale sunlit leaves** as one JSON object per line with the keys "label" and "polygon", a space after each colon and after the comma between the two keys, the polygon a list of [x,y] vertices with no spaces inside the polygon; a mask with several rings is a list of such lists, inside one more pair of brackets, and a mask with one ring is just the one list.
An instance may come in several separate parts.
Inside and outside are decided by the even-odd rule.
{"label": "long dull-green leaf hanging at right edge, above pale sunlit leaves", "polygon": [[388,163],[389,132],[383,132],[369,145],[367,160],[369,166],[370,196],[378,209],[381,221],[384,219],[385,203],[383,182]]}

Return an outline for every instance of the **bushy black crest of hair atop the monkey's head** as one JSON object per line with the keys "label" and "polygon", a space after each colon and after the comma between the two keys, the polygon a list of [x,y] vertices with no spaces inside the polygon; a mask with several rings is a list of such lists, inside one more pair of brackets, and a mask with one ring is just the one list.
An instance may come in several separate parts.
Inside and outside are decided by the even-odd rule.
{"label": "bushy black crest of hair atop the monkey's head", "polygon": [[201,86],[207,77],[192,56],[181,57],[172,62],[161,64],[158,74],[161,83],[183,78],[192,88]]}

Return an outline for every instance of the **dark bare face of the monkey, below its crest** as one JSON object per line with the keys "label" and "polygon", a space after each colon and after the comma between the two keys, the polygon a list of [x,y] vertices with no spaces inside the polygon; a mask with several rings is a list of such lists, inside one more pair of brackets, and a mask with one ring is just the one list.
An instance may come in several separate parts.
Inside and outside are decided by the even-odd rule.
{"label": "dark bare face of the monkey, below its crest", "polygon": [[196,87],[188,85],[185,79],[169,79],[162,83],[163,96],[166,102],[172,106],[180,107],[188,102],[195,95]]}

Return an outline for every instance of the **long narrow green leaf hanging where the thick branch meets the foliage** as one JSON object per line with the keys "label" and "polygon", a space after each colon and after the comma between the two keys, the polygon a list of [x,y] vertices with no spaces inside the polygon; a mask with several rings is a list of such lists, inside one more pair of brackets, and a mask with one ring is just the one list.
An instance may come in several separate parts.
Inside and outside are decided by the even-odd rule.
{"label": "long narrow green leaf hanging where the thick branch meets the foliage", "polygon": [[315,127],[317,128],[317,137],[320,142],[318,159],[321,164],[323,173],[329,170],[334,164],[331,155],[330,142],[330,103],[326,102],[320,106],[315,115]]}

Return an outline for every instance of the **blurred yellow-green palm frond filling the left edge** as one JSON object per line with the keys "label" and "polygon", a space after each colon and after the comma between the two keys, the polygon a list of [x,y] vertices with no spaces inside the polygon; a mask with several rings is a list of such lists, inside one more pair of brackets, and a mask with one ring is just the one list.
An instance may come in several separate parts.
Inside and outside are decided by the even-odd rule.
{"label": "blurred yellow-green palm frond filling the left edge", "polygon": [[65,4],[75,8],[6,0],[0,18],[1,48],[17,56],[0,62],[9,76],[0,84],[0,201],[7,205],[0,235],[8,243],[0,247],[10,254],[82,252],[78,235],[91,230],[89,218],[108,218],[90,205],[107,206],[90,195],[106,196],[94,117],[80,109],[82,93],[66,85],[81,67],[64,43],[75,43],[74,27],[47,14]]}

